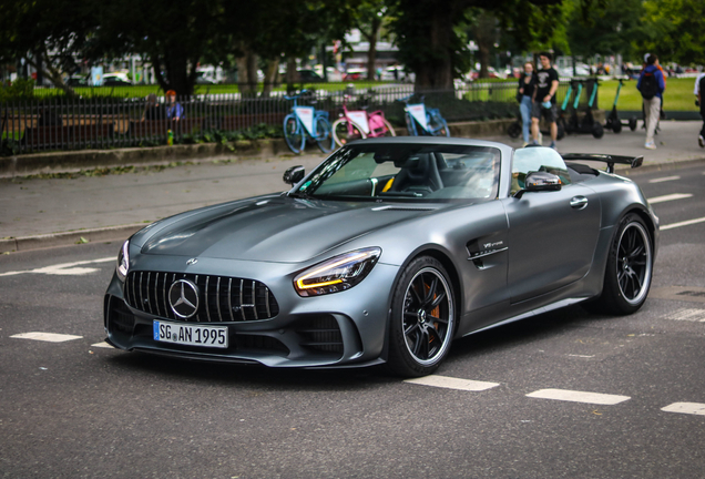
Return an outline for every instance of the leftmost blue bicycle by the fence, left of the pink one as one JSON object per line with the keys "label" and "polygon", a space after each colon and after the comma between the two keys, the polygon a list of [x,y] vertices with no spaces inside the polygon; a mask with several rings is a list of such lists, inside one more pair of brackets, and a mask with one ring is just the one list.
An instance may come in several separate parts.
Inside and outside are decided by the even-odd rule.
{"label": "leftmost blue bicycle by the fence, left of the pink one", "polygon": [[307,90],[302,90],[297,95],[284,96],[285,100],[294,100],[292,113],[284,118],[284,139],[296,154],[304,151],[307,135],[318,143],[321,152],[330,153],[335,141],[328,122],[328,112],[297,104],[298,98],[307,92]]}

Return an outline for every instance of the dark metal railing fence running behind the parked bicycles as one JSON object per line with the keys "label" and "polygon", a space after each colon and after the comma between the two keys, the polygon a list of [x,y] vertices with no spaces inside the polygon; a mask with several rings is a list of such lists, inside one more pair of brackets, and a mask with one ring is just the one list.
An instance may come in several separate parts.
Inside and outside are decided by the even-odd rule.
{"label": "dark metal railing fence running behind the parked bicycles", "polygon": [[[558,99],[568,88],[562,83]],[[403,103],[399,100],[415,94],[412,101],[423,101],[438,108],[449,122],[508,118],[517,114],[517,83],[482,83],[460,85],[449,91],[415,92],[412,85],[379,85],[345,91],[311,91],[299,99],[299,105],[313,105],[328,112],[335,120],[348,109],[382,110],[390,122],[403,125]],[[583,95],[581,104],[586,103]],[[268,98],[246,98],[239,93],[205,93],[180,98],[183,116],[176,121],[167,114],[165,99],[126,98],[39,98],[0,103],[2,154],[37,151],[83,150],[166,144],[170,136],[176,143],[198,141],[211,132],[246,132],[257,125],[278,129],[290,112],[293,101],[284,92]],[[170,134],[171,133],[171,134]]]}

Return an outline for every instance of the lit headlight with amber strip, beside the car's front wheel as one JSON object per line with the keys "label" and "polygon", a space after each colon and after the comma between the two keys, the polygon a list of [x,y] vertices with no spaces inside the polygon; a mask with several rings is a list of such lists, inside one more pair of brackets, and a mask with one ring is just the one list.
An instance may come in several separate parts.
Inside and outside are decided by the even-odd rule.
{"label": "lit headlight with amber strip, beside the car's front wheel", "polygon": [[294,278],[294,288],[304,297],[349,289],[365,279],[380,254],[380,248],[370,247],[331,257],[299,273]]}

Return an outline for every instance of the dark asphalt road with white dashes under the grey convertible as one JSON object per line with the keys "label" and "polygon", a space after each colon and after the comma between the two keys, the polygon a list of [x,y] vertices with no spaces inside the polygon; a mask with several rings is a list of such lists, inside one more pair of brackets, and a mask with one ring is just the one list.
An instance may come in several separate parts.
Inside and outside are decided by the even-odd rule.
{"label": "dark asphalt road with white dashes under the grey convertible", "polygon": [[117,244],[0,256],[0,477],[702,478],[705,165],[633,179],[663,230],[645,306],[458,340],[450,387],[105,348]]}

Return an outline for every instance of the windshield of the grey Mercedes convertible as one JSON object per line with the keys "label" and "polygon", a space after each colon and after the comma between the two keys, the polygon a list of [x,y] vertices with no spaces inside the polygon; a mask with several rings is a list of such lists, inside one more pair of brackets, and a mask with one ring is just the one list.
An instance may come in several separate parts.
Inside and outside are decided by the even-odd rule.
{"label": "windshield of the grey Mercedes convertible", "polygon": [[317,198],[495,198],[500,151],[488,146],[368,144],[338,150],[295,194]]}

